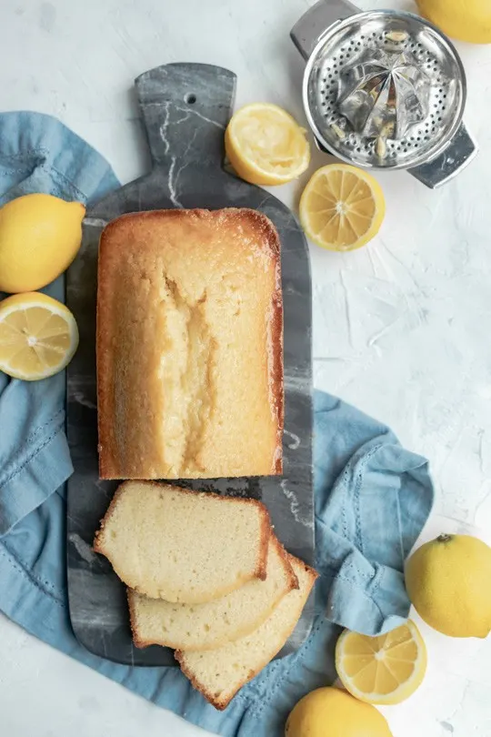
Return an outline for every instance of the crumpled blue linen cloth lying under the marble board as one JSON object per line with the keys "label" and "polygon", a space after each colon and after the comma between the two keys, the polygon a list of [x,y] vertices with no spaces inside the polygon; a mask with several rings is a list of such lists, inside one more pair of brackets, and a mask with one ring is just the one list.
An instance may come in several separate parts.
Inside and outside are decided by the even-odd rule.
{"label": "crumpled blue linen cloth lying under the marble board", "polygon": [[[54,118],[0,115],[0,204],[32,191],[91,201],[117,184],[90,146]],[[49,288],[63,297],[63,282]],[[316,392],[316,620],[299,651],[274,661],[216,712],[177,668],[95,657],[70,626],[65,586],[63,376],[0,375],[0,611],[26,631],[145,699],[224,737],[282,737],[306,692],[336,679],[340,627],[378,634],[409,611],[404,560],[433,503],[426,459],[339,399]]]}

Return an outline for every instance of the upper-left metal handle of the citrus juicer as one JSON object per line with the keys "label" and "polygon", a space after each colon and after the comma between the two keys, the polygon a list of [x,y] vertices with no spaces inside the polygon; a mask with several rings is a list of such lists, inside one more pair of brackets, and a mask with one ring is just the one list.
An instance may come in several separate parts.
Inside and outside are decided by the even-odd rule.
{"label": "upper-left metal handle of the citrus juicer", "polygon": [[300,54],[308,59],[329,26],[356,13],[361,13],[361,9],[347,0],[320,0],[302,15],[290,36]]}

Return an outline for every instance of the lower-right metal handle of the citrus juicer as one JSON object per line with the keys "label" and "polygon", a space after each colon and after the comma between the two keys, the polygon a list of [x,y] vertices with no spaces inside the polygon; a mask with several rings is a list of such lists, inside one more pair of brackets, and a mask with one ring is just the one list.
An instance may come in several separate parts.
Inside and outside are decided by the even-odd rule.
{"label": "lower-right metal handle of the citrus juicer", "polygon": [[470,164],[475,158],[478,147],[474,138],[468,133],[464,123],[457,130],[456,135],[452,138],[445,151],[436,156],[427,164],[420,167],[408,169],[409,174],[419,179],[420,182],[436,189],[446,184],[450,179]]}

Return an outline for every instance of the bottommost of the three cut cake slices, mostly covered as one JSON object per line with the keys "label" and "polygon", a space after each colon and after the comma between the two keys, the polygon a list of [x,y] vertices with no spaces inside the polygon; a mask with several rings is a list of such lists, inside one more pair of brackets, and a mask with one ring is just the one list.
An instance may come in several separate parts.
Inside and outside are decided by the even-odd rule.
{"label": "bottommost of the three cut cake slices, mostly covered", "polygon": [[290,560],[299,588],[286,594],[256,631],[216,650],[175,652],[185,676],[215,709],[225,709],[235,693],[275,657],[294,631],[317,573],[302,560],[293,556]]}

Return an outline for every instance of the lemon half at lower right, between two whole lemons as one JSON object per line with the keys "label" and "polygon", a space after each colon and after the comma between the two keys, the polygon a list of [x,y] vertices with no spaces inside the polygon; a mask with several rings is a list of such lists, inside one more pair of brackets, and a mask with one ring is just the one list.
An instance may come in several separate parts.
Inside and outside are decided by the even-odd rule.
{"label": "lemon half at lower right, between two whole lemons", "polygon": [[425,677],[426,645],[413,621],[378,637],[345,630],[336,643],[336,670],[362,702],[404,702]]}

